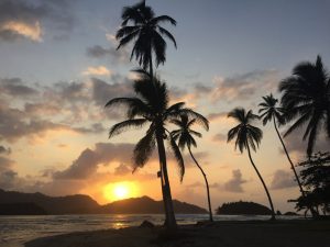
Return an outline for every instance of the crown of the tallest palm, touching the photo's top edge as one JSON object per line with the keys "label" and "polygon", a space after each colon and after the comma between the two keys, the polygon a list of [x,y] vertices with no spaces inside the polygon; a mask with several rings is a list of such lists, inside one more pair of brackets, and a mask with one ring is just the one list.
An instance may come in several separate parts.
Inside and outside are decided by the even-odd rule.
{"label": "crown of the tallest palm, touching the photo's top edge", "polygon": [[[163,36],[169,38],[176,47],[174,36],[162,27],[161,23],[169,22],[176,25],[176,21],[168,15],[155,16],[152,8],[145,5],[145,1],[132,7],[124,7],[121,18],[123,22],[116,35],[116,38],[119,40],[117,49],[134,41],[131,59],[135,56],[139,65],[145,70],[148,67],[148,72],[153,76],[153,54],[155,54],[156,66],[166,60],[166,42]],[[130,23],[132,24],[130,25]]]}

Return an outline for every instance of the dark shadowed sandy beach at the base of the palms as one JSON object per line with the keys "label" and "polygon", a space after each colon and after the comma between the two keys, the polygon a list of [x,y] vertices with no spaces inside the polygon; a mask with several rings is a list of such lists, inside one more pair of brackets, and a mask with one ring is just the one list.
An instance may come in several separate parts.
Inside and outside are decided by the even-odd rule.
{"label": "dark shadowed sandy beach at the base of the palms", "polygon": [[217,222],[179,226],[164,239],[162,227],[128,227],[37,238],[25,247],[329,247],[329,221]]}

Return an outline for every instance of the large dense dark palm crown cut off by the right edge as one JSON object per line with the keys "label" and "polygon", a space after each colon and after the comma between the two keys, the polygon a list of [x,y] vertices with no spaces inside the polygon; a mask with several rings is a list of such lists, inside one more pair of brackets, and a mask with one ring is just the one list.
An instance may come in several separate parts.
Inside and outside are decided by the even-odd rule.
{"label": "large dense dark palm crown cut off by the right edge", "polygon": [[330,76],[321,57],[318,56],[315,64],[298,64],[293,75],[279,83],[279,91],[283,92],[280,104],[286,122],[295,121],[284,136],[305,126],[302,139],[308,139],[307,155],[310,157],[320,128],[324,126],[330,138]]}

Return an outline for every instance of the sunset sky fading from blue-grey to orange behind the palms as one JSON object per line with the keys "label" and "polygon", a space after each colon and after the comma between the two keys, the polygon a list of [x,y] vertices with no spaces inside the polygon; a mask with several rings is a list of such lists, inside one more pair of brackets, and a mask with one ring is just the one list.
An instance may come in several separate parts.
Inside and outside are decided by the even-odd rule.
{"label": "sunset sky fading from blue-grey to orange behind the palms", "polygon": [[[128,46],[117,50],[121,10],[136,1],[0,1],[0,188],[50,195],[86,193],[100,204],[127,197],[161,200],[157,154],[132,173],[134,144],[145,130],[108,139],[109,127],[124,120],[124,109],[108,100],[132,94]],[[157,75],[170,102],[185,101],[210,120],[210,131],[193,151],[205,168],[212,206],[230,201],[267,205],[266,194],[245,153],[227,144],[235,106],[257,112],[262,97],[280,97],[278,82],[300,61],[321,55],[330,66],[330,1],[147,0],[177,41],[167,42],[166,63]],[[329,68],[329,67],[328,67]],[[299,195],[273,126],[262,126],[253,154],[271,189],[275,209],[294,209]],[[170,128],[170,126],[169,126]],[[280,128],[282,133],[287,128]],[[295,162],[305,157],[301,131],[285,138]],[[329,149],[320,132],[317,150]],[[206,207],[204,179],[188,154],[180,183],[168,154],[173,198]]]}

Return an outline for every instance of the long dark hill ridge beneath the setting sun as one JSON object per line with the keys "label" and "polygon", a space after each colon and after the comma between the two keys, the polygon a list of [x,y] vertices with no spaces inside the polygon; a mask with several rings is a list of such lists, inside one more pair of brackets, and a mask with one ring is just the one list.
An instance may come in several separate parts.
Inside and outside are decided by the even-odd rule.
{"label": "long dark hill ridge beneath the setting sun", "polygon": [[[9,204],[14,205],[9,207]],[[176,213],[202,214],[205,209],[173,201]],[[2,210],[1,210],[2,209]],[[23,210],[24,209],[24,210]],[[0,189],[0,214],[162,214],[163,202],[148,197],[132,198],[99,205],[88,195],[48,197],[42,193],[22,193]]]}

